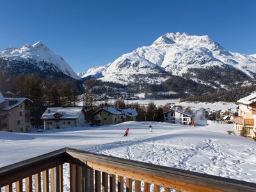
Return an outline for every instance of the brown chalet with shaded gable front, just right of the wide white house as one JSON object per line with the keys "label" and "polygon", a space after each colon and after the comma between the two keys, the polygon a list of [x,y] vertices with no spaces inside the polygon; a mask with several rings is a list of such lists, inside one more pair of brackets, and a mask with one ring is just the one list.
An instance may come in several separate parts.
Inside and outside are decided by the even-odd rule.
{"label": "brown chalet with shaded gable front, just right of the wide white house", "polygon": [[93,113],[93,123],[97,125],[120,124],[124,122],[123,113],[117,108],[102,108]]}

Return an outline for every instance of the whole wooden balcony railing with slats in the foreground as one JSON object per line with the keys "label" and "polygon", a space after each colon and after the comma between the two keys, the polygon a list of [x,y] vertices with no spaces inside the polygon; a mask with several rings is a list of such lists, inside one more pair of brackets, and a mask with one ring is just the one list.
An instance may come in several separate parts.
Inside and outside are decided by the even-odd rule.
{"label": "whole wooden balcony railing with slats in the foreground", "polygon": [[64,163],[69,191],[256,191],[256,183],[71,148],[0,168],[0,190],[63,191]]}

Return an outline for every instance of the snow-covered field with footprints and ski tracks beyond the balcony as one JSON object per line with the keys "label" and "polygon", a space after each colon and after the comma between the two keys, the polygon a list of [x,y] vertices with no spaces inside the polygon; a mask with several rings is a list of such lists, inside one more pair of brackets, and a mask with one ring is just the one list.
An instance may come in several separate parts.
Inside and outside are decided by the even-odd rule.
{"label": "snow-covered field with footprints and ski tracks beyond the balcony", "polygon": [[[152,124],[153,132],[148,125]],[[124,130],[129,127],[128,137]],[[204,127],[125,122],[18,134],[0,132],[0,167],[63,147],[256,182],[255,141],[228,135],[232,124]],[[68,189],[68,182],[65,182]]]}

